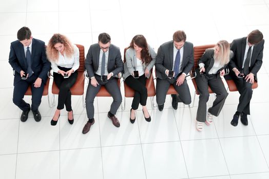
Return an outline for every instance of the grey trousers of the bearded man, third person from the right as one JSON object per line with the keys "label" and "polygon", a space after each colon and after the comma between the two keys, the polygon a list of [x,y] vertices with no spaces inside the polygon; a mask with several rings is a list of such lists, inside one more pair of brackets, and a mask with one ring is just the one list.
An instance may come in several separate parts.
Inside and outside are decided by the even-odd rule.
{"label": "grey trousers of the bearded man, third person from the right", "polygon": [[186,81],[184,80],[183,84],[180,86],[176,85],[177,78],[172,79],[160,79],[157,78],[157,84],[156,84],[156,101],[158,105],[163,105],[165,102],[166,94],[168,91],[168,88],[170,84],[173,84],[176,91],[178,92],[178,99],[179,102],[183,102],[184,104],[190,104],[191,103],[191,97],[189,93],[189,86]]}

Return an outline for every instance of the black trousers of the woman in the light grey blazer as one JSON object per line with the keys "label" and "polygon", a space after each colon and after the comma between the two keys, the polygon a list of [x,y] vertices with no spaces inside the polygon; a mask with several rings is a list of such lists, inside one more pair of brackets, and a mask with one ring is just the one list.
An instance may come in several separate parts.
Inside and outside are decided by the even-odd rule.
{"label": "black trousers of the woman in the light grey blazer", "polygon": [[139,78],[133,78],[133,76],[130,75],[125,79],[125,83],[134,90],[132,109],[137,110],[139,103],[142,106],[145,106],[147,104],[147,88],[145,75],[142,75]]}

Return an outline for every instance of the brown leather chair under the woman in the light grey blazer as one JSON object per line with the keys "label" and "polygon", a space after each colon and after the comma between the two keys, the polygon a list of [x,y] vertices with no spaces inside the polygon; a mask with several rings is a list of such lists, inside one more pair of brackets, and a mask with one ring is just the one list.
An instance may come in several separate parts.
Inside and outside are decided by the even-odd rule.
{"label": "brown leather chair under the woman in the light grey blazer", "polygon": [[[126,50],[128,48],[124,49],[124,57],[123,57],[123,62],[126,62],[126,57],[125,57],[125,53]],[[130,88],[125,82],[124,83],[124,106],[122,106],[122,109],[125,110],[125,102],[126,99],[125,98],[133,98],[134,96],[134,90],[132,88]],[[151,105],[152,107],[156,107],[157,105],[155,105],[154,103],[154,97],[156,95],[156,91],[155,91],[155,85],[154,85],[154,80],[153,80],[153,74],[152,74],[152,70],[151,70],[151,75],[148,79],[146,79],[146,88],[147,88],[147,96],[150,97],[151,99]]]}

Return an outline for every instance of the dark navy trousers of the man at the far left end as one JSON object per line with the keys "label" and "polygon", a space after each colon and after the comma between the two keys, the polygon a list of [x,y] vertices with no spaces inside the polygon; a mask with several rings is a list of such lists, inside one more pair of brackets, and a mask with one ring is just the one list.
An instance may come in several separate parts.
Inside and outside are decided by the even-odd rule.
{"label": "dark navy trousers of the man at the far left end", "polygon": [[39,109],[39,105],[41,103],[42,94],[44,91],[45,82],[42,81],[40,87],[34,87],[34,82],[37,79],[37,75],[32,74],[26,80],[18,81],[14,84],[14,91],[13,91],[13,103],[18,106],[21,110],[29,110],[30,104],[26,103],[23,98],[24,94],[27,91],[28,86],[31,86],[32,91],[32,110]]}

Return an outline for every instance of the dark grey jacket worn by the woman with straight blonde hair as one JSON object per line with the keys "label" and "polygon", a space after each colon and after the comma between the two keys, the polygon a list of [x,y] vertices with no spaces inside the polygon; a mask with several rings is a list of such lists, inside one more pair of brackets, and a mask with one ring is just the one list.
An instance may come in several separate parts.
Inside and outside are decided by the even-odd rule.
{"label": "dark grey jacket worn by the woman with straight blonde hair", "polygon": [[[233,51],[230,51],[230,59],[233,57]],[[214,59],[214,49],[207,49],[203,56],[198,61],[198,70],[200,71],[199,64],[204,63],[205,73],[208,74],[208,72],[212,69],[214,65],[215,59]],[[220,73],[223,69],[225,69],[227,64],[223,65],[221,69],[218,70],[217,74]]]}

